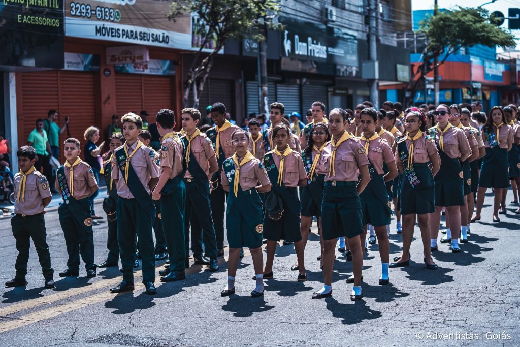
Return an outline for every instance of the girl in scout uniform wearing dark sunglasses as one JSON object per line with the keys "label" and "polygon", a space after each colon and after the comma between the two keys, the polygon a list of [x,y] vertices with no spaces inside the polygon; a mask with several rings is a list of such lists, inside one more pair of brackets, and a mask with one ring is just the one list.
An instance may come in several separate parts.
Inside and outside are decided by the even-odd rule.
{"label": "girl in scout uniform wearing dark sunglasses", "polygon": [[445,207],[446,220],[451,226],[451,235],[447,235],[448,240],[451,239],[450,249],[452,252],[460,252],[460,207],[464,205],[464,173],[461,162],[471,156],[471,148],[464,132],[449,122],[450,109],[447,105],[440,104],[435,117],[437,125],[428,129],[428,133],[435,137],[442,165],[435,175],[435,213],[430,216],[431,248],[435,249],[437,246],[440,212]]}

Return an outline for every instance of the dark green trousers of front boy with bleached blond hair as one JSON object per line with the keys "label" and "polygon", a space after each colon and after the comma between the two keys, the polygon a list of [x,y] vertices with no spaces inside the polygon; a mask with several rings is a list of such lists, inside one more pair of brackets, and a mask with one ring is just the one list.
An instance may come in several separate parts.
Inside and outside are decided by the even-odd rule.
{"label": "dark green trousers of front boy with bleached blond hair", "polygon": [[118,216],[118,243],[121,257],[121,272],[125,281],[134,281],[136,235],[139,238],[139,253],[142,261],[142,281],[155,280],[155,255],[153,252],[153,222],[141,210],[136,199],[119,197],[116,207]]}

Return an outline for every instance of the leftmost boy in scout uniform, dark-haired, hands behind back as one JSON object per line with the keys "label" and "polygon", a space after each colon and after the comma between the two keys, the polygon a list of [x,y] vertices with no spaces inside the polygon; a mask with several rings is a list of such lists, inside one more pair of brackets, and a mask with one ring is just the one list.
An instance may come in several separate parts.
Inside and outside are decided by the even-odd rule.
{"label": "leftmost boy in scout uniform, dark-haired, hands behind back", "polygon": [[11,218],[12,235],[16,239],[16,275],[5,283],[6,287],[26,286],[27,262],[29,261],[30,238],[38,253],[45,288],[54,288],[54,270],[50,267],[49,246],[45,233],[44,208],[52,195],[44,175],[36,171],[36,151],[33,147],[20,147],[16,153],[20,172],[15,175],[15,215]]}

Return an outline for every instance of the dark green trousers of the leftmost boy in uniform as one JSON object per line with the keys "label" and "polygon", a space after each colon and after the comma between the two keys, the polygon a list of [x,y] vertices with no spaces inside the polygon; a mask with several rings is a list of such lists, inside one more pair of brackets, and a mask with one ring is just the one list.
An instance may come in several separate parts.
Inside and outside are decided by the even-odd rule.
{"label": "dark green trousers of the leftmost boy in uniform", "polygon": [[43,213],[25,217],[16,214],[11,218],[11,227],[12,236],[16,239],[16,250],[18,251],[15,263],[15,277],[17,279],[25,279],[25,275],[27,275],[27,262],[29,261],[29,249],[32,238],[34,248],[36,248],[38,253],[38,260],[40,260],[40,265],[42,265],[43,277],[45,280],[53,279],[54,270],[50,267],[49,246],[47,246]]}

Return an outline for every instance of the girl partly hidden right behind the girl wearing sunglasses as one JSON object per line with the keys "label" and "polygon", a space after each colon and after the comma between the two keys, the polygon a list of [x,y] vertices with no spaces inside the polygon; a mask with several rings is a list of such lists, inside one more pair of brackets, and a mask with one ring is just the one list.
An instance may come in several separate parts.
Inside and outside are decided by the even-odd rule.
{"label": "girl partly hidden right behind the girl wearing sunglasses", "polygon": [[[461,235],[460,235],[460,242],[466,243],[467,242],[467,196],[471,193],[471,166],[470,164],[477,160],[479,157],[479,151],[478,151],[478,143],[477,139],[475,137],[475,134],[473,133],[473,130],[471,127],[463,126],[460,122],[460,117],[462,113],[462,109],[458,104],[453,104],[450,106],[450,118],[449,122],[452,126],[458,127],[464,132],[464,135],[467,138],[467,141],[470,144],[471,148],[471,156],[464,160],[462,162],[462,174],[463,174],[463,188],[464,188],[464,204],[460,207],[460,215],[461,215]],[[451,225],[449,224],[449,219],[446,220],[446,234],[448,234],[448,230],[451,228]],[[442,238],[440,242],[446,243],[449,242],[451,238],[450,235],[446,235],[446,238]]]}

